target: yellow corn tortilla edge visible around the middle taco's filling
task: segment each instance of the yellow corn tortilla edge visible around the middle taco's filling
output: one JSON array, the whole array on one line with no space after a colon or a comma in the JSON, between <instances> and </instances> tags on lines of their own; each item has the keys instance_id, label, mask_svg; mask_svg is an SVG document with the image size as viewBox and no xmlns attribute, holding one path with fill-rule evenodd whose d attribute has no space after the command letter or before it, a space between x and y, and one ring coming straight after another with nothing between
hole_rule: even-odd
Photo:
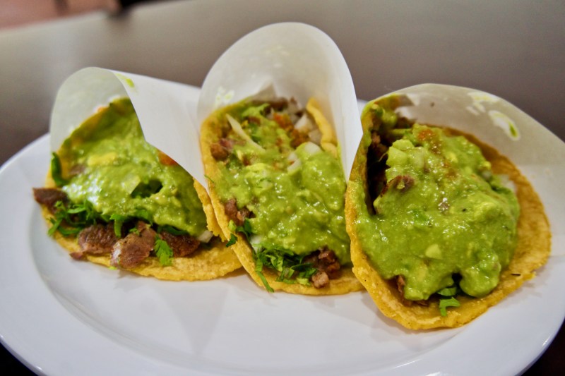
<instances>
[{"instance_id":1,"label":"yellow corn tortilla edge visible around the middle taco's filling","mask_svg":"<svg viewBox=\"0 0 565 376\"><path fill-rule=\"evenodd\" d=\"M330 123L325 119L321 110L314 100L309 101L307 104L307 111L314 118L314 121L319 126L322 133L322 142L324 150L331 150L333 155L337 155L337 140L333 133L333 128ZM230 223L230 218L227 217L225 213L224 205L222 204L220 197L215 191L214 181L218 180L217 177L220 175L220 170L218 169L216 163L217 161L212 156L210 152L210 145L214 142L218 142L222 135L222 124L225 123L220 119L221 110L211 114L208 119L206 119L201 127L201 152L204 164L204 170L206 171L206 176L208 176L208 188L210 191L210 199L214 207L216 218L218 223L224 232L226 238L230 238L232 235L228 225ZM326 144L326 145L324 145ZM263 281L258 277L255 272L255 262L252 257L252 248L244 236L237 234L237 242L231 245L231 248L239 257L239 261L242 263L246 272L249 273L252 279L260 286L265 288ZM330 279L328 286L321 289L316 289L314 286L304 286L302 284L286 284L281 281L276 281L278 274L272 272L268 268L263 268L263 274L268 281L268 284L275 291L286 291L287 293L299 293L303 295L336 295L349 293L352 291L361 291L363 286L359 283L355 274L352 272L351 267L341 267L341 275L338 279Z\"/></svg>"}]
</instances>

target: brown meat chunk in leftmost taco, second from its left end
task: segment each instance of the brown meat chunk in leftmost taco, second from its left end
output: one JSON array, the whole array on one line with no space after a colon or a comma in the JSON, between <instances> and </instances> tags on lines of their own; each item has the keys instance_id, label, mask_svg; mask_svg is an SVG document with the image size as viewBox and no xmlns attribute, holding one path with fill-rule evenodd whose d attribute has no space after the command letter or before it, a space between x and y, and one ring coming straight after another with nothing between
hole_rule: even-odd
<instances>
[{"instance_id":1,"label":"brown meat chunk in leftmost taco, second from its left end","mask_svg":"<svg viewBox=\"0 0 565 376\"><path fill-rule=\"evenodd\" d=\"M81 259L85 254L105 255L112 253L114 244L118 241L112 224L94 224L78 233L78 245L81 250L71 253L71 257Z\"/></svg>"}]
</instances>

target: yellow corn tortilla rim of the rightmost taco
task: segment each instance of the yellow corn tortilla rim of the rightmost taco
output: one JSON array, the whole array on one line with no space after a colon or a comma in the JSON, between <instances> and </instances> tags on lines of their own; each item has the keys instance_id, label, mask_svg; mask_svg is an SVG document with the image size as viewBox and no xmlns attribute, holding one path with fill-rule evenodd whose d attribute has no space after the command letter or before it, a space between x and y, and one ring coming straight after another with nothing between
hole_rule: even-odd
<instances>
[{"instance_id":1,"label":"yellow corn tortilla rim of the rightmost taco","mask_svg":"<svg viewBox=\"0 0 565 376\"><path fill-rule=\"evenodd\" d=\"M370 132L372 126L368 116L362 115L364 133ZM450 130L452 133L464 135L479 146L484 157L491 162L494 174L509 176L516 186L516 196L521 207L518 219L518 245L513 259L507 269L501 273L496 288L483 298L457 296L460 307L449 308L448 315L441 316L437 301L430 300L428 306L404 305L396 283L387 281L371 266L367 255L361 248L359 236L355 228L358 213L355 211L355 200L366 198L367 186L367 145L359 145L353 163L350 181L345 198L345 217L347 234L351 238L351 258L353 272L369 291L381 313L396 320L408 329L432 329L439 327L460 327L475 319L489 307L492 307L512 291L518 289L525 281L535 277L535 269L547 261L551 249L551 232L540 198L528 180L518 168L493 147L480 142L472 135Z\"/></svg>"}]
</instances>

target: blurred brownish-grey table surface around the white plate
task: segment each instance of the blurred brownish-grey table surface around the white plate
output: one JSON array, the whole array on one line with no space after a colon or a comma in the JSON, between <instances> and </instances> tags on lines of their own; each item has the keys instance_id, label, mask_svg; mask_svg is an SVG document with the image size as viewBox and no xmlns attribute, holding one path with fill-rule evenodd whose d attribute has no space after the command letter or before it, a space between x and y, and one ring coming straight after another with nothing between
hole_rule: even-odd
<instances>
[{"instance_id":1,"label":"blurred brownish-grey table surface around the white plate","mask_svg":"<svg viewBox=\"0 0 565 376\"><path fill-rule=\"evenodd\" d=\"M162 1L121 16L0 30L0 164L47 133L57 89L78 69L200 86L239 37L283 21L333 38L359 99L419 83L473 87L509 100L565 140L562 1ZM561 329L526 374L564 371L564 338ZM4 349L0 362L27 370Z\"/></svg>"}]
</instances>

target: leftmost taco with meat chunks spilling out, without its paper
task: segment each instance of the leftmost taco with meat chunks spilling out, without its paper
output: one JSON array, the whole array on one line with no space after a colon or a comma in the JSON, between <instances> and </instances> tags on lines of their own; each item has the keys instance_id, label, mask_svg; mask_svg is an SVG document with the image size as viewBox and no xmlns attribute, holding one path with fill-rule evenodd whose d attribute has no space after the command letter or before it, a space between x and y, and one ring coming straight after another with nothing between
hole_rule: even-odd
<instances>
[{"instance_id":1,"label":"leftmost taco with meat chunks spilling out, without its paper","mask_svg":"<svg viewBox=\"0 0 565 376\"><path fill-rule=\"evenodd\" d=\"M49 234L77 260L177 281L241 267L206 190L145 142L129 99L76 128L33 191Z\"/></svg>"}]
</instances>

